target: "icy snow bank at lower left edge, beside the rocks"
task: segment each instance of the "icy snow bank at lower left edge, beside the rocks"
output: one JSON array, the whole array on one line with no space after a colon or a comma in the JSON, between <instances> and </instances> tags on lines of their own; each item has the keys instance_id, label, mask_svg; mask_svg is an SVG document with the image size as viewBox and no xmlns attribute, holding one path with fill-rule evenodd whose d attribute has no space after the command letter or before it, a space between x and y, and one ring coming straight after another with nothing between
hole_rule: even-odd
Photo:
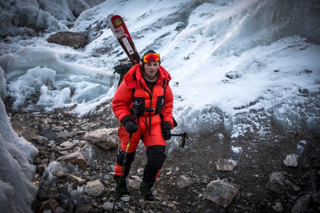
<instances>
[{"instance_id":1,"label":"icy snow bank at lower left edge, beside the rocks","mask_svg":"<svg viewBox=\"0 0 320 213\"><path fill-rule=\"evenodd\" d=\"M0 82L3 70L0 69ZM2 95L2 94L1 94ZM12 129L0 100L0 207L3 213L31 212L29 207L37 193L32 184L38 150Z\"/></svg>"}]
</instances>

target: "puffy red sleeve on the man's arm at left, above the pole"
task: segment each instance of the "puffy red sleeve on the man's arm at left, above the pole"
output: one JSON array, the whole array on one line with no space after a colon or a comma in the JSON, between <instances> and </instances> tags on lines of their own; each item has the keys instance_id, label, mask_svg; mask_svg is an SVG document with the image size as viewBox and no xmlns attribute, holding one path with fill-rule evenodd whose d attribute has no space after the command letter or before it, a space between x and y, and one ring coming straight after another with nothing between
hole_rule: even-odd
<instances>
[{"instance_id":1,"label":"puffy red sleeve on the man's arm at left, above the pole","mask_svg":"<svg viewBox=\"0 0 320 213\"><path fill-rule=\"evenodd\" d=\"M128 89L125 82L122 81L117 90L114 93L112 100L112 111L115 117L122 121L126 115L130 115L130 103L132 100L133 89Z\"/></svg>"}]
</instances>

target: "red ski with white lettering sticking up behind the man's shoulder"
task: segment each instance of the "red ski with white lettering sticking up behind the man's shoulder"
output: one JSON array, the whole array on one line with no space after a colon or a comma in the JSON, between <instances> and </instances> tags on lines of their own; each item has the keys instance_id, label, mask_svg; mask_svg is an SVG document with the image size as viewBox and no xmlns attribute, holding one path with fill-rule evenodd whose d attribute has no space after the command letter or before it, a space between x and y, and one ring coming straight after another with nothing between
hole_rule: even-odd
<instances>
[{"instance_id":1,"label":"red ski with white lettering sticking up behind the man's shoulder","mask_svg":"<svg viewBox=\"0 0 320 213\"><path fill-rule=\"evenodd\" d=\"M140 62L140 56L137 52L130 33L124 23L123 18L120 15L109 14L107 16L107 23L111 29L113 35L123 48L124 52L132 62L132 64L137 64Z\"/></svg>"}]
</instances>

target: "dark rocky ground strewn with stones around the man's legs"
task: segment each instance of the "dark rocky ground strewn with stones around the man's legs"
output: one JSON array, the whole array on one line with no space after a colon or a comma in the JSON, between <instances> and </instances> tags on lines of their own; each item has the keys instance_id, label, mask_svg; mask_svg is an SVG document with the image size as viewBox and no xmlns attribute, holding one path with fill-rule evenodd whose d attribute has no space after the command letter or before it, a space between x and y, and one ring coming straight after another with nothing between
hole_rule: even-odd
<instances>
[{"instance_id":1,"label":"dark rocky ground strewn with stones around the man's legs","mask_svg":"<svg viewBox=\"0 0 320 213\"><path fill-rule=\"evenodd\" d=\"M33 161L36 166L33 182L39 187L32 206L34 212L45 209L55 213L111 212L115 197L112 171L117 148L105 150L84 139L87 132L117 127L109 103L101 107L104 107L102 113L83 118L67 109L45 113L24 108L12 112L7 107L12 128L39 150ZM153 204L146 203L137 190L145 164L144 147L140 144L128 177L131 200L117 202L114 212L320 212L319 140L316 133L285 131L276 125L268 135L251 134L234 140L229 139L223 129L198 132L190 135L183 149L173 140L152 188L156 196ZM306 142L302 153L297 149L301 141ZM234 154L230 151L232 146L241 147L241 152ZM63 157L71 153L80 153L85 159L79 159L77 166L72 166L66 163L72 161ZM283 160L290 154L298 155L297 166L284 165ZM225 161L230 158L236 164ZM49 173L54 162L59 162L60 169ZM229 171L218 170L218 162L229 163ZM218 204L227 203L225 198L214 202L207 196L208 185L218 180L234 187L232 192L236 192L224 207ZM89 185L93 186L91 191ZM222 191L222 188L215 190Z\"/></svg>"}]
</instances>

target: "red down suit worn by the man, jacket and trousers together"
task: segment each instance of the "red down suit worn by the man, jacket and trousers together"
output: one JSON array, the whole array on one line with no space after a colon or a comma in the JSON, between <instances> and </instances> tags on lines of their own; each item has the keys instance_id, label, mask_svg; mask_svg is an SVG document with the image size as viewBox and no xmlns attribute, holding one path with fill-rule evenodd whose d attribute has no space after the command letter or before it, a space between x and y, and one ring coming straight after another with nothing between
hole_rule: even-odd
<instances>
[{"instance_id":1,"label":"red down suit worn by the man, jacket and trousers together","mask_svg":"<svg viewBox=\"0 0 320 213\"><path fill-rule=\"evenodd\" d=\"M133 117L134 108L138 109L138 114L135 119L135 122L138 124L138 129L131 136L127 151L127 162L122 176L126 177L129 173L128 170L134 159L134 154L140 139L146 150L150 146L154 148L158 145L165 148L166 142L162 137L161 122L169 122L171 129L173 128L173 95L169 86L170 80L171 77L169 73L160 65L157 80L150 90L142 77L141 64L136 64L126 73L123 81L117 88L112 100L112 110L120 122L118 136L121 144L114 170L115 176L120 176L122 161L121 159L119 160L119 155L124 155L129 140L129 133L125 131L124 124L122 124L121 121L127 115ZM145 108L154 108L154 111L147 112L143 110ZM147 152L146 154L148 155ZM165 154L163 153L163 155ZM157 174L158 172L159 171L157 171Z\"/></svg>"}]
</instances>

